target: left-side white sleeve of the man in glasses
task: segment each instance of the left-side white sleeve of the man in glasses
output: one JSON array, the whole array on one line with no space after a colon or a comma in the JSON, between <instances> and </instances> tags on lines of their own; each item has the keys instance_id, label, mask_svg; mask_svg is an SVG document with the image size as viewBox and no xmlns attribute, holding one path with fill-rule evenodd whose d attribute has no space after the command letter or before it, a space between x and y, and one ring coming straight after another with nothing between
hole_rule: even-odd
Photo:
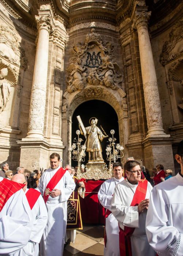
<instances>
[{"instance_id":1,"label":"left-side white sleeve of the man in glasses","mask_svg":"<svg viewBox=\"0 0 183 256\"><path fill-rule=\"evenodd\" d=\"M127 203L123 200L123 190L120 189L122 187L129 191L129 202ZM113 199L111 201L111 212L119 224L127 227L139 227L138 206L127 206L131 204L133 198L133 196L130 197L130 192L130 188L127 188L125 185L118 184L115 187Z\"/></svg>"}]
</instances>

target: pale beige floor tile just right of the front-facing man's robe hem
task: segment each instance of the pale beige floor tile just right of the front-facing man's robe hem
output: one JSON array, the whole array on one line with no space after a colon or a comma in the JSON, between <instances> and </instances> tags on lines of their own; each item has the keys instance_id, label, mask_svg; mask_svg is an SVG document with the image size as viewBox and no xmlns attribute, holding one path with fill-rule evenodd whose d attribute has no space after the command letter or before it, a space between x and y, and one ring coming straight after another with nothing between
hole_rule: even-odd
<instances>
[{"instance_id":1,"label":"pale beige floor tile just right of the front-facing man's robe hem","mask_svg":"<svg viewBox=\"0 0 183 256\"><path fill-rule=\"evenodd\" d=\"M91 238L84 236L83 234L76 234L75 243L70 243L70 246L76 248L79 251L83 251L84 249L96 244L97 242L92 240Z\"/></svg>"}]
</instances>

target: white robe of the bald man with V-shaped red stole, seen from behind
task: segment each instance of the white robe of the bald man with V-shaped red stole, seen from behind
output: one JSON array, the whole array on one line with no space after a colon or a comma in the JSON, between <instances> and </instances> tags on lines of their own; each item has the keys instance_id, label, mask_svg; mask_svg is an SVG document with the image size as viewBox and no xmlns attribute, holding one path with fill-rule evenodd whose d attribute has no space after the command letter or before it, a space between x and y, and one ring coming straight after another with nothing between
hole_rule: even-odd
<instances>
[{"instance_id":1,"label":"white robe of the bald man with V-shaped red stole, seen from behind","mask_svg":"<svg viewBox=\"0 0 183 256\"><path fill-rule=\"evenodd\" d=\"M27 193L27 191L28 188L25 193ZM30 239L28 244L20 250L18 256L39 256L39 242L41 241L43 231L47 224L47 209L41 194L35 202L31 213L33 216L33 229Z\"/></svg>"}]
</instances>

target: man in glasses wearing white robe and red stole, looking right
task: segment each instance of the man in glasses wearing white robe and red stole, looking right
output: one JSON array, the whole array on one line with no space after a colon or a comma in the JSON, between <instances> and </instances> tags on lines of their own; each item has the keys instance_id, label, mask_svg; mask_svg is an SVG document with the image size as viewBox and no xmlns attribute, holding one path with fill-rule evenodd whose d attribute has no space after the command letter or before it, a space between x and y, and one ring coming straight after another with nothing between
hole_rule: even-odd
<instances>
[{"instance_id":1,"label":"man in glasses wearing white robe and red stole, looking right","mask_svg":"<svg viewBox=\"0 0 183 256\"><path fill-rule=\"evenodd\" d=\"M155 256L150 247L145 221L152 186L141 180L140 163L131 160L125 163L126 180L114 189L111 212L119 223L119 248L121 256Z\"/></svg>"}]
</instances>

